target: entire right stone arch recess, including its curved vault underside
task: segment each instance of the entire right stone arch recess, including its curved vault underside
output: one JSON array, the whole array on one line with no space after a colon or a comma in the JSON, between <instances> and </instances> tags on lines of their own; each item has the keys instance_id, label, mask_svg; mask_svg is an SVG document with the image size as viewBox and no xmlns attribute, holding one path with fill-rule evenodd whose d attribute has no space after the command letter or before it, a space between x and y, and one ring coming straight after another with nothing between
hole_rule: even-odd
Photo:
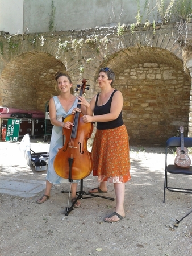
<instances>
[{"instance_id":1,"label":"entire right stone arch recess, including its curved vault underside","mask_svg":"<svg viewBox=\"0 0 192 256\"><path fill-rule=\"evenodd\" d=\"M187 134L191 78L176 55L154 47L127 48L111 56L107 66L124 97L130 143L165 143L179 126Z\"/></svg>"}]
</instances>

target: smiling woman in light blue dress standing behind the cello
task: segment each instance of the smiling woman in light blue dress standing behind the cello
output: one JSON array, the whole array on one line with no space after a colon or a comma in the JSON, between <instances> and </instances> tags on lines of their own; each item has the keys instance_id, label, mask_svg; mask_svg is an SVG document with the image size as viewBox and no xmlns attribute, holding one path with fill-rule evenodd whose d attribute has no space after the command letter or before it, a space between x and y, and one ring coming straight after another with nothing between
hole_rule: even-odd
<instances>
[{"instance_id":1,"label":"smiling woman in light blue dress standing behind the cello","mask_svg":"<svg viewBox=\"0 0 192 256\"><path fill-rule=\"evenodd\" d=\"M54 170L54 159L59 150L64 145L62 128L70 129L73 123L63 122L63 118L72 114L72 110L77 106L78 98L71 93L72 81L70 76L66 73L56 73L55 80L57 81L57 88L60 90L59 96L53 96L49 101L49 115L50 121L53 125L50 150L49 150L49 163L48 171L46 176L46 188L43 196L37 200L37 203L42 204L47 201L50 197L51 188L53 184L61 184L68 182L68 179L64 179L56 174ZM82 112L85 107L82 106ZM77 182L73 180L71 187L72 192L72 203L76 199ZM74 204L74 207L80 207L80 201Z\"/></svg>"}]
</instances>

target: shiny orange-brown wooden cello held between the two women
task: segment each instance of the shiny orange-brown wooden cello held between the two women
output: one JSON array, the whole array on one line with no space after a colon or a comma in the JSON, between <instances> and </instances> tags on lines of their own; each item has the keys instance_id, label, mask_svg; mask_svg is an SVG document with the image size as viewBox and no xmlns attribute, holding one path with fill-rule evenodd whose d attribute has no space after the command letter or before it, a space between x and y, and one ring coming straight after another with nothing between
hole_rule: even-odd
<instances>
[{"instance_id":1,"label":"shiny orange-brown wooden cello held between the two women","mask_svg":"<svg viewBox=\"0 0 192 256\"><path fill-rule=\"evenodd\" d=\"M86 79L83 79L82 85L78 85L81 87L80 96L84 94L85 89L89 89L86 88L86 82ZM79 109L81 108L80 102L78 100ZM69 182L73 182L73 179L84 179L93 169L91 153L87 150L87 141L93 132L93 123L85 123L82 116L81 112L76 112L65 118L65 122L72 122L73 126L69 130L62 129L65 143L62 148L59 148L54 160L56 174L69 179Z\"/></svg>"}]
</instances>

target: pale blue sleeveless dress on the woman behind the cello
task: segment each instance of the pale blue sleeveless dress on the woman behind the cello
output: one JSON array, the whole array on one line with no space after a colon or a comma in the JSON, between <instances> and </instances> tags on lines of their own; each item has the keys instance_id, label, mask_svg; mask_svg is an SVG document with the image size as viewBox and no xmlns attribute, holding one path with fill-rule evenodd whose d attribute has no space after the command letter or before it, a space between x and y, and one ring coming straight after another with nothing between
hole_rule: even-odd
<instances>
[{"instance_id":1,"label":"pale blue sleeveless dress on the woman behind the cello","mask_svg":"<svg viewBox=\"0 0 192 256\"><path fill-rule=\"evenodd\" d=\"M68 112L65 112L64 108L62 108L62 105L60 104L59 98L57 96L53 96L53 100L55 102L56 107L56 118L58 121L62 122L62 117L67 117L68 115L72 114L72 110L76 108L78 99L73 103L72 108L69 109ZM61 126L53 126L52 134L51 134L51 142L50 142L50 148L49 148L49 163L48 163L48 170L47 170L47 176L46 180L48 180L52 184L61 184L61 183L67 183L69 182L68 179L64 179L56 174L54 170L54 159L55 156L59 150L59 148L62 148L64 143L62 139L62 127ZM73 182L78 182L78 180L73 180Z\"/></svg>"}]
</instances>

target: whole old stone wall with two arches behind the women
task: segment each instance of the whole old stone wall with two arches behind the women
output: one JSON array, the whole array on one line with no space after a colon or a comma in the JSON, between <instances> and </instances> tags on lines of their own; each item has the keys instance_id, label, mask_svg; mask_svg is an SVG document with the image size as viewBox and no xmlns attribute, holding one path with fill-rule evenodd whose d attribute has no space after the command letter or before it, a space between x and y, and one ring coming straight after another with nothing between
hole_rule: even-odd
<instances>
[{"instance_id":1,"label":"whole old stone wall with two arches behind the women","mask_svg":"<svg viewBox=\"0 0 192 256\"><path fill-rule=\"evenodd\" d=\"M0 105L45 110L56 94L55 71L67 71L73 85L87 79L88 100L98 90L99 68L114 70L114 87L124 97L123 119L132 144L162 144L179 126L191 133L191 57L175 40L174 24L137 28L117 36L116 27L55 34L0 37ZM192 30L190 30L192 31ZM189 34L189 38L190 38Z\"/></svg>"}]
</instances>

